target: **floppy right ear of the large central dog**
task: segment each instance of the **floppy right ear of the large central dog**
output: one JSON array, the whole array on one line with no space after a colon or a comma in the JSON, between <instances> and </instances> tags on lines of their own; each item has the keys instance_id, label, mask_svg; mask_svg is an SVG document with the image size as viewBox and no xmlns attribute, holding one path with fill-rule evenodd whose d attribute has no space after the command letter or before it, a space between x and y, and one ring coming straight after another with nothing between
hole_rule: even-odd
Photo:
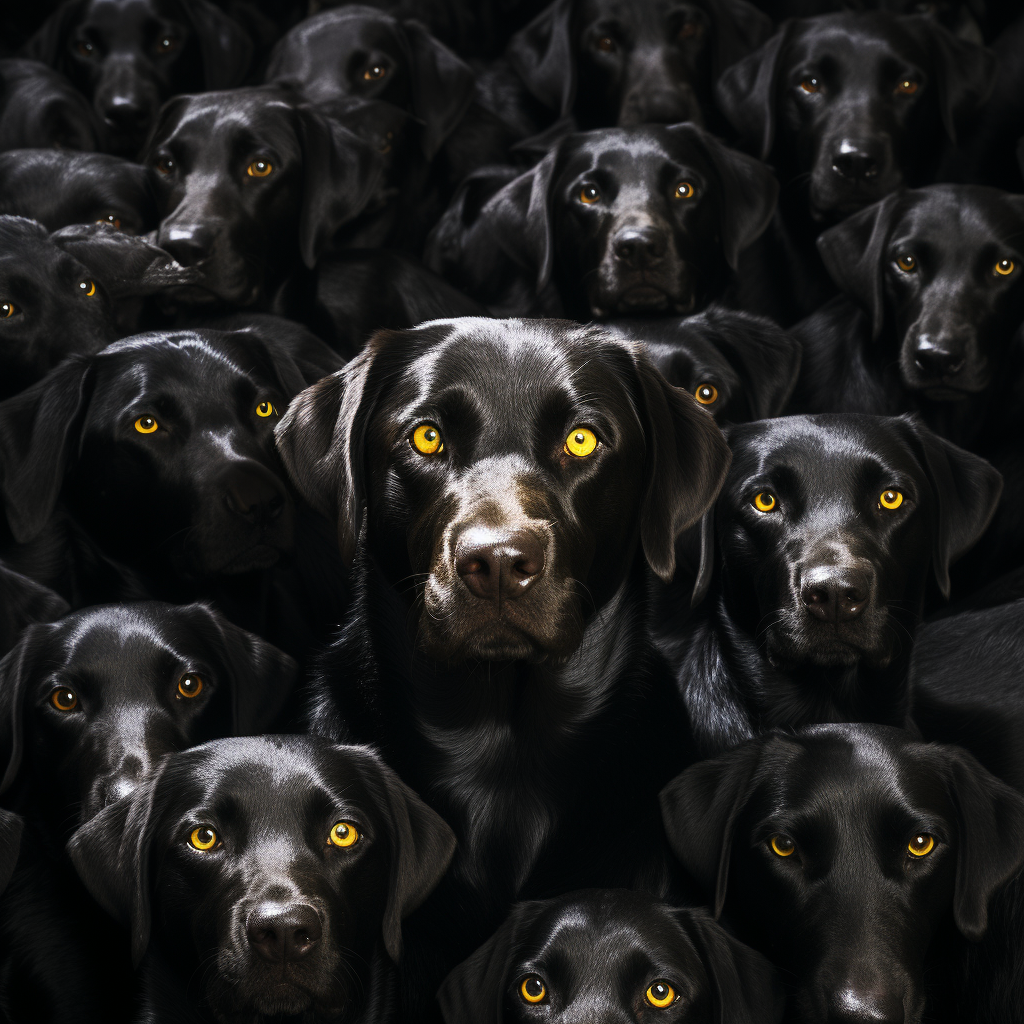
<instances>
[{"instance_id":1,"label":"floppy right ear of the large central dog","mask_svg":"<svg viewBox=\"0 0 1024 1024\"><path fill-rule=\"evenodd\" d=\"M670 583L676 541L714 504L732 453L711 414L673 387L645 350L637 346L634 359L647 445L640 541L650 567Z\"/></svg>"}]
</instances>

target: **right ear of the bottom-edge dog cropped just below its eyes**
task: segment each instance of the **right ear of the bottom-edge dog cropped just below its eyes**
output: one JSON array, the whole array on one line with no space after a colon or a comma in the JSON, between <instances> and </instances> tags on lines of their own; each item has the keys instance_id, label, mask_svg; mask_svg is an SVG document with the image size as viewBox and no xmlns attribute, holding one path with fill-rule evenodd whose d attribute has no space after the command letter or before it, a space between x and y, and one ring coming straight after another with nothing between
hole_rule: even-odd
<instances>
[{"instance_id":1,"label":"right ear of the bottom-edge dog cropped just below its eyes","mask_svg":"<svg viewBox=\"0 0 1024 1024\"><path fill-rule=\"evenodd\" d=\"M778 1024L785 992L771 964L703 910L677 910L711 980L716 1024Z\"/></svg>"}]
</instances>

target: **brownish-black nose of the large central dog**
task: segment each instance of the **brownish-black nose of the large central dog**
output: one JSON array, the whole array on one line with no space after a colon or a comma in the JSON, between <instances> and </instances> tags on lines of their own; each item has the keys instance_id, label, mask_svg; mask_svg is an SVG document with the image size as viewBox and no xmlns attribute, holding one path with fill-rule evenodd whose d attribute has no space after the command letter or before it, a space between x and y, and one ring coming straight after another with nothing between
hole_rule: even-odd
<instances>
[{"instance_id":1,"label":"brownish-black nose of the large central dog","mask_svg":"<svg viewBox=\"0 0 1024 1024\"><path fill-rule=\"evenodd\" d=\"M544 545L525 529L468 529L456 544L455 570L484 601L514 601L544 571Z\"/></svg>"}]
</instances>

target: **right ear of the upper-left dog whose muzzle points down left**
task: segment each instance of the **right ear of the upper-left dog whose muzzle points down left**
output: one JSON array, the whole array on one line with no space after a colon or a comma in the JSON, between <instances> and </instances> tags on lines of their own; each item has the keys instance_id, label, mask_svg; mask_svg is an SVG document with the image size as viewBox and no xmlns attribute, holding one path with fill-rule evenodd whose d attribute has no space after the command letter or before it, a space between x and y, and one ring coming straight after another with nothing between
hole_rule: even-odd
<instances>
[{"instance_id":1,"label":"right ear of the upper-left dog whose muzzle points down left","mask_svg":"<svg viewBox=\"0 0 1024 1024\"><path fill-rule=\"evenodd\" d=\"M295 108L305 185L299 252L312 267L342 224L370 202L383 169L380 154L354 132L309 106Z\"/></svg>"}]
</instances>

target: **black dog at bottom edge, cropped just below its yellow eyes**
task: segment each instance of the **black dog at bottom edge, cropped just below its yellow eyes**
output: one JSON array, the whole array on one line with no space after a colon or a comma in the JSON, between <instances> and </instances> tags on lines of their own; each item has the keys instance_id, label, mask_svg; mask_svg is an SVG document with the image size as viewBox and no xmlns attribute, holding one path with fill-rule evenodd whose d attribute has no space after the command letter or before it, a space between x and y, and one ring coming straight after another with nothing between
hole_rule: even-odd
<instances>
[{"instance_id":1,"label":"black dog at bottom edge, cropped just below its yellow eyes","mask_svg":"<svg viewBox=\"0 0 1024 1024\"><path fill-rule=\"evenodd\" d=\"M702 910L591 889L517 904L438 999L445 1024L774 1024L780 988L768 963Z\"/></svg>"}]
</instances>

